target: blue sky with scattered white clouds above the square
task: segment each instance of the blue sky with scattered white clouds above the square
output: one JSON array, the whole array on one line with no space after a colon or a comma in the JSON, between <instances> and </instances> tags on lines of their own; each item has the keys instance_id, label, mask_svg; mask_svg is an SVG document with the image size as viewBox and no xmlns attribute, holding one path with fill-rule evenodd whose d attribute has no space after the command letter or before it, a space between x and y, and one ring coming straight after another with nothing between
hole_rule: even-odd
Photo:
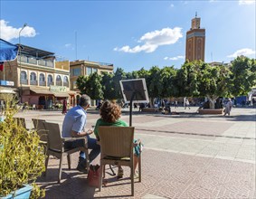
<instances>
[{"instance_id":1,"label":"blue sky with scattered white clouds above the square","mask_svg":"<svg viewBox=\"0 0 256 199\"><path fill-rule=\"evenodd\" d=\"M255 0L0 1L0 37L61 59L137 71L185 62L195 12L205 28L205 62L255 58Z\"/></svg>"}]
</instances>

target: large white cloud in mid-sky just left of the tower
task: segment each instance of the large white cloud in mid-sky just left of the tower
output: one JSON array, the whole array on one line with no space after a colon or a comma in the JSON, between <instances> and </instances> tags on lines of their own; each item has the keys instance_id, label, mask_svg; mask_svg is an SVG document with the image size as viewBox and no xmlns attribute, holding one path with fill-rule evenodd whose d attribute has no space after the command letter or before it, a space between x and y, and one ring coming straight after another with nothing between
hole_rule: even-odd
<instances>
[{"instance_id":1,"label":"large white cloud in mid-sky just left of the tower","mask_svg":"<svg viewBox=\"0 0 256 199\"><path fill-rule=\"evenodd\" d=\"M114 51L130 53L155 52L159 46L176 43L181 37L183 37L181 33L181 28L163 28L160 31L156 30L150 33L145 33L143 36L141 36L137 43L144 43L142 45L137 45L133 48L125 45L121 48L114 48Z\"/></svg>"}]
</instances>

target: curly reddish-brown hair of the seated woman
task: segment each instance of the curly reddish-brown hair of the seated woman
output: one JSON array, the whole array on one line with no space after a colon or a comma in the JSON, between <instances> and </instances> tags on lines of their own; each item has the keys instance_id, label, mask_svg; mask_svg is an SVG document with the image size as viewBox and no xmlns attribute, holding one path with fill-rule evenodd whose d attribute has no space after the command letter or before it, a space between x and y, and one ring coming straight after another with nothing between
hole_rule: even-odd
<instances>
[{"instance_id":1,"label":"curly reddish-brown hair of the seated woman","mask_svg":"<svg viewBox=\"0 0 256 199\"><path fill-rule=\"evenodd\" d=\"M121 109L117 103L105 101L100 107L101 118L109 123L114 123L121 117Z\"/></svg>"}]
</instances>

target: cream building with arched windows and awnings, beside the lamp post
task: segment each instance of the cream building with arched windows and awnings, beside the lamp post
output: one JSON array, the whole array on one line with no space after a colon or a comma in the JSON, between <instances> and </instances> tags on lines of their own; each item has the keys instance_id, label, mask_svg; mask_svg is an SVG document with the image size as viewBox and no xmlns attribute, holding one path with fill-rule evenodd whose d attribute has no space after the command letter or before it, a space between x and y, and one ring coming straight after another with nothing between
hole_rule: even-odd
<instances>
[{"instance_id":1,"label":"cream building with arched windows and awnings, beside the lamp post","mask_svg":"<svg viewBox=\"0 0 256 199\"><path fill-rule=\"evenodd\" d=\"M64 99L73 106L76 92L70 90L70 62L56 62L53 52L30 46L20 49L17 59L4 66L5 81L13 82L19 100L38 109L52 108Z\"/></svg>"}]
</instances>

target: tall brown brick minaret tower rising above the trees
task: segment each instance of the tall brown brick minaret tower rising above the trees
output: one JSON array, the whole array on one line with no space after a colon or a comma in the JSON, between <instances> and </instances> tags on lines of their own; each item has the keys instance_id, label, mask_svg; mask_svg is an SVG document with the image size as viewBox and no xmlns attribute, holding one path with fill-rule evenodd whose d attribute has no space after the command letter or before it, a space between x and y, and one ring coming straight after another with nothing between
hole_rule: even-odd
<instances>
[{"instance_id":1,"label":"tall brown brick minaret tower rising above the trees","mask_svg":"<svg viewBox=\"0 0 256 199\"><path fill-rule=\"evenodd\" d=\"M200 27L200 21L201 18L195 14L190 30L186 32L185 60L189 62L193 62L194 60L204 62L205 29Z\"/></svg>"}]
</instances>

